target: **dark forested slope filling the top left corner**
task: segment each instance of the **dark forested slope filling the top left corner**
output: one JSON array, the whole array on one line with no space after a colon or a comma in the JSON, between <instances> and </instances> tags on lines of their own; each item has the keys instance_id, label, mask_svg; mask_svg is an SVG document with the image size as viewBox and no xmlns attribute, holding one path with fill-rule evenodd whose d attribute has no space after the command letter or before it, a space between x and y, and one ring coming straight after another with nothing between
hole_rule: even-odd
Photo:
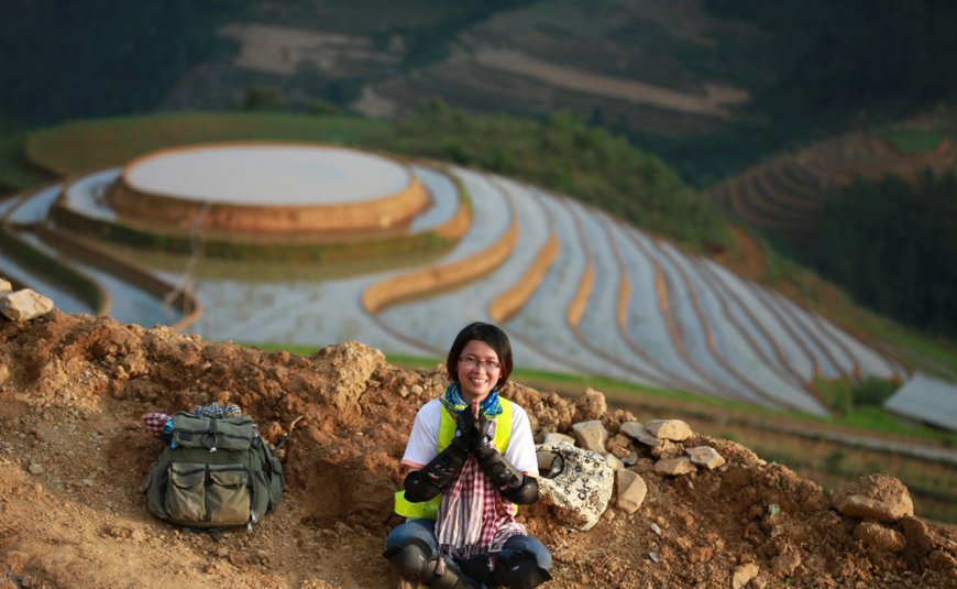
<instances>
[{"instance_id":1,"label":"dark forested slope filling the top left corner","mask_svg":"<svg viewBox=\"0 0 957 589\"><path fill-rule=\"evenodd\" d=\"M250 3L18 3L0 19L2 109L31 126L154 110L197 63L235 48L215 31Z\"/></svg>"}]
</instances>

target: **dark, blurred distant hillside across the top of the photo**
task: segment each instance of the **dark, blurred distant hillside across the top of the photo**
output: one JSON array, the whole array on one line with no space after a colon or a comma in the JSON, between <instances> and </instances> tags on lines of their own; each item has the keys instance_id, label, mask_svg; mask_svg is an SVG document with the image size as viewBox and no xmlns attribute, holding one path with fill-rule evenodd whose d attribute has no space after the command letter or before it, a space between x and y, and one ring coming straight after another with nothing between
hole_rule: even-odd
<instances>
[{"instance_id":1,"label":"dark, blurred distant hillside across the top of the photo","mask_svg":"<svg viewBox=\"0 0 957 589\"><path fill-rule=\"evenodd\" d=\"M15 0L0 114L34 127L156 110L317 103L393 117L440 97L626 132L706 185L795 140L957 88L957 8L892 0L161 4Z\"/></svg>"}]
</instances>

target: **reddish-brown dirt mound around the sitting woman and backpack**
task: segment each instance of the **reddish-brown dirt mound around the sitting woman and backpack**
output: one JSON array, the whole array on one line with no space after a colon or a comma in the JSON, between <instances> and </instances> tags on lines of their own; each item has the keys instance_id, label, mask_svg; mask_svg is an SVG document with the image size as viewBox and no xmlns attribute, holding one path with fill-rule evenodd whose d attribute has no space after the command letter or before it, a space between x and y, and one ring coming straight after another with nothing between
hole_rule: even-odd
<instances>
[{"instance_id":1,"label":"reddish-brown dirt mound around the sitting woman and backpack","mask_svg":"<svg viewBox=\"0 0 957 589\"><path fill-rule=\"evenodd\" d=\"M0 587L386 587L399 457L416 410L443 386L439 367L399 369L356 342L302 358L56 310L2 321ZM537 440L596 413L612 432L667 417L519 383L505 394L528 408ZM302 416L282 450L278 510L218 542L152 517L139 491L160 448L140 416L213 401L240 404L274 443ZM634 514L610 506L575 532L547 505L524 509L553 553L551 587L957 582L953 527L843 515L820 486L743 446L701 435L684 444L710 445L726 463L664 476L650 448L636 448L630 468L648 494Z\"/></svg>"}]
</instances>

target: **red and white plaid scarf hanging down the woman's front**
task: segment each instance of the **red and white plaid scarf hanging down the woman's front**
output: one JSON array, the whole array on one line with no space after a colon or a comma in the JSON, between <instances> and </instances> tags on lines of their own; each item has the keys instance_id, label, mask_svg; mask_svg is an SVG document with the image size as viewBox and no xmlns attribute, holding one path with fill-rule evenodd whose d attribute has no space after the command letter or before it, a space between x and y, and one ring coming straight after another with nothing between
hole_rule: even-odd
<instances>
[{"instance_id":1,"label":"red and white plaid scarf hanging down the woman's front","mask_svg":"<svg viewBox=\"0 0 957 589\"><path fill-rule=\"evenodd\" d=\"M473 558L501 550L516 534L527 532L515 521L515 504L495 490L479 461L470 456L439 505L439 549L455 558Z\"/></svg>"}]
</instances>

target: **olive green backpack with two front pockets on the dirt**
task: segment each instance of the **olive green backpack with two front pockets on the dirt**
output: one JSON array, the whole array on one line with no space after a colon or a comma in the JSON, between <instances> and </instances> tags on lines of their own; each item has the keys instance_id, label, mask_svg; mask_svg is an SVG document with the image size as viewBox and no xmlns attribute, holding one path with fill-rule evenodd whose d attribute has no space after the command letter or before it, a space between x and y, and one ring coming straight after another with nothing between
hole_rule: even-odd
<instances>
[{"instance_id":1,"label":"olive green backpack with two front pockets on the dirt","mask_svg":"<svg viewBox=\"0 0 957 589\"><path fill-rule=\"evenodd\" d=\"M283 465L250 417L179 412L143 491L150 511L170 523L251 530L276 509L283 486Z\"/></svg>"}]
</instances>

